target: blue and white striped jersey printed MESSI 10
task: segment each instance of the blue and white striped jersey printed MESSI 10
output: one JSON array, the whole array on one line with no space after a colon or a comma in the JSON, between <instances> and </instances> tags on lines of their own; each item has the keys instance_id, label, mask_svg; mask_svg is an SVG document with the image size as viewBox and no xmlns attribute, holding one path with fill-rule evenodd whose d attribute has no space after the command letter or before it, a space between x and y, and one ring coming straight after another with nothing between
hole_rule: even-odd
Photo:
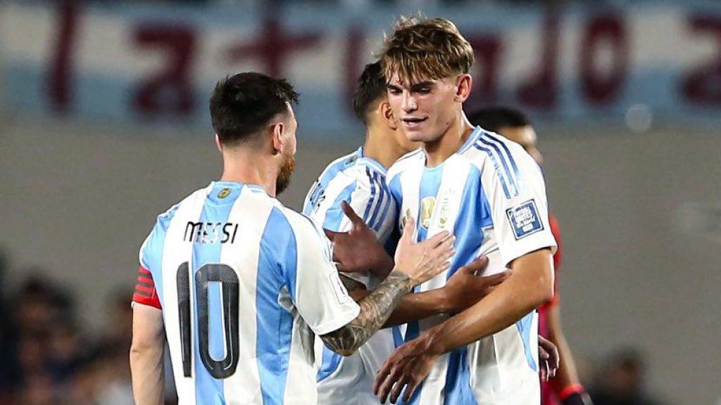
<instances>
[{"instance_id":1,"label":"blue and white striped jersey printed MESSI 10","mask_svg":"<svg viewBox=\"0 0 721 405\"><path fill-rule=\"evenodd\" d=\"M180 404L315 404L315 334L348 324L322 231L260 187L212 182L140 252L162 303Z\"/></svg>"}]
</instances>

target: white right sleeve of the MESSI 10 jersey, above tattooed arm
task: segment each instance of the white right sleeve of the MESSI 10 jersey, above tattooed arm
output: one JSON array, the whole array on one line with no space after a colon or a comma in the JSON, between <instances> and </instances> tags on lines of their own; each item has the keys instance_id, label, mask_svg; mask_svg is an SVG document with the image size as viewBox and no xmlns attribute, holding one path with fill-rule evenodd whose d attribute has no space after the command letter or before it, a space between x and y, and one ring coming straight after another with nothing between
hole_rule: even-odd
<instances>
[{"instance_id":1,"label":"white right sleeve of the MESSI 10 jersey, above tattooed arm","mask_svg":"<svg viewBox=\"0 0 721 405\"><path fill-rule=\"evenodd\" d=\"M355 319L361 308L342 285L322 231L311 221L296 225L296 271L285 272L286 282L306 324L318 335L327 334Z\"/></svg>"}]
</instances>

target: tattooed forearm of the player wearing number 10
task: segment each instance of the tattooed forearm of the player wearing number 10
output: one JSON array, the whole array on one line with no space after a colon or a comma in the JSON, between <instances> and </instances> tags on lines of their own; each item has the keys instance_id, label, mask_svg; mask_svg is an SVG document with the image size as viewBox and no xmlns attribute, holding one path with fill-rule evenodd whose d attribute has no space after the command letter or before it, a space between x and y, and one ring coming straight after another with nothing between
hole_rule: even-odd
<instances>
[{"instance_id":1,"label":"tattooed forearm of the player wearing number 10","mask_svg":"<svg viewBox=\"0 0 721 405\"><path fill-rule=\"evenodd\" d=\"M410 290L410 278L407 275L391 272L378 288L358 303L361 306L358 317L342 328L322 335L321 339L334 352L344 356L352 355L386 323L394 308Z\"/></svg>"}]
</instances>

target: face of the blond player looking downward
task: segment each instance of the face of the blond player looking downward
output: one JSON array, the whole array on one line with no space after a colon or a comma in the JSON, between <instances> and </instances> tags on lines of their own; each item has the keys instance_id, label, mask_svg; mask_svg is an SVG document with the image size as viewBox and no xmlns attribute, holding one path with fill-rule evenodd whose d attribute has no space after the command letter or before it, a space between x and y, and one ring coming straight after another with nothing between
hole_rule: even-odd
<instances>
[{"instance_id":1,"label":"face of the blond player looking downward","mask_svg":"<svg viewBox=\"0 0 721 405\"><path fill-rule=\"evenodd\" d=\"M409 141L433 142L454 123L456 79L402 81L397 75L388 84L388 102L400 130Z\"/></svg>"}]
</instances>

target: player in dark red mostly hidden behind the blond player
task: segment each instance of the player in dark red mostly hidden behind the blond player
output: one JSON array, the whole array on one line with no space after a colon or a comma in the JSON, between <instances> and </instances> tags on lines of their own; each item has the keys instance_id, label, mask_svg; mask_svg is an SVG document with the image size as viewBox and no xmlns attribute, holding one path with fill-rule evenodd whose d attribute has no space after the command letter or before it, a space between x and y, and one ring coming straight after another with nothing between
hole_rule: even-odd
<instances>
[{"instance_id":1,"label":"player in dark red mostly hidden behind the blond player","mask_svg":"<svg viewBox=\"0 0 721 405\"><path fill-rule=\"evenodd\" d=\"M518 143L537 164L543 163L543 155L536 147L536 131L523 112L509 107L488 107L470 113L468 119L473 125ZM591 404L590 398L578 380L573 355L561 328L557 277L562 259L561 233L554 215L549 213L548 219L558 249L553 255L554 295L551 301L539 308L539 334L558 347L561 364L554 378L541 383L541 404L557 405L560 400L563 405L588 405Z\"/></svg>"}]
</instances>

